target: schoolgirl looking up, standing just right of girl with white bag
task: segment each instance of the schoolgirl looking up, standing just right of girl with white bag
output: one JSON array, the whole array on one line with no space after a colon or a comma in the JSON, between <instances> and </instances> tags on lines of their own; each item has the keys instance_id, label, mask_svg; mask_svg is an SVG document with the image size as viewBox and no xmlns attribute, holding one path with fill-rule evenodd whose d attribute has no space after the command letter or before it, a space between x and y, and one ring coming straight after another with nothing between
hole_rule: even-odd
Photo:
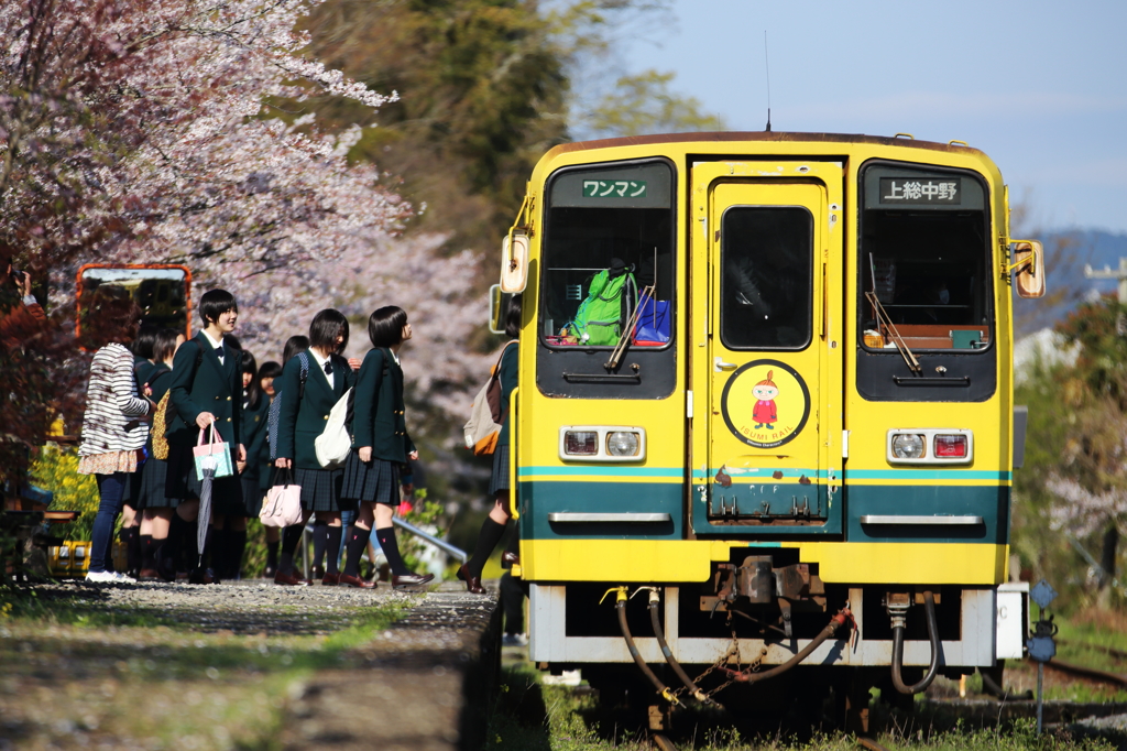
<instances>
[{"instance_id":1,"label":"schoolgirl looking up, standing just right of girl with white bag","mask_svg":"<svg viewBox=\"0 0 1127 751\"><path fill-rule=\"evenodd\" d=\"M391 585L399 590L426 584L434 574L410 571L399 555L391 519L399 505L399 467L418 451L407 434L403 417L403 371L399 347L411 338L411 326L401 308L380 308L367 320L372 348L364 357L356 383L353 450L345 462L346 498L360 501L360 514L348 537L347 563L340 583L371 589L375 582L360 576L360 557L375 523L375 537L391 567Z\"/></svg>"}]
</instances>

